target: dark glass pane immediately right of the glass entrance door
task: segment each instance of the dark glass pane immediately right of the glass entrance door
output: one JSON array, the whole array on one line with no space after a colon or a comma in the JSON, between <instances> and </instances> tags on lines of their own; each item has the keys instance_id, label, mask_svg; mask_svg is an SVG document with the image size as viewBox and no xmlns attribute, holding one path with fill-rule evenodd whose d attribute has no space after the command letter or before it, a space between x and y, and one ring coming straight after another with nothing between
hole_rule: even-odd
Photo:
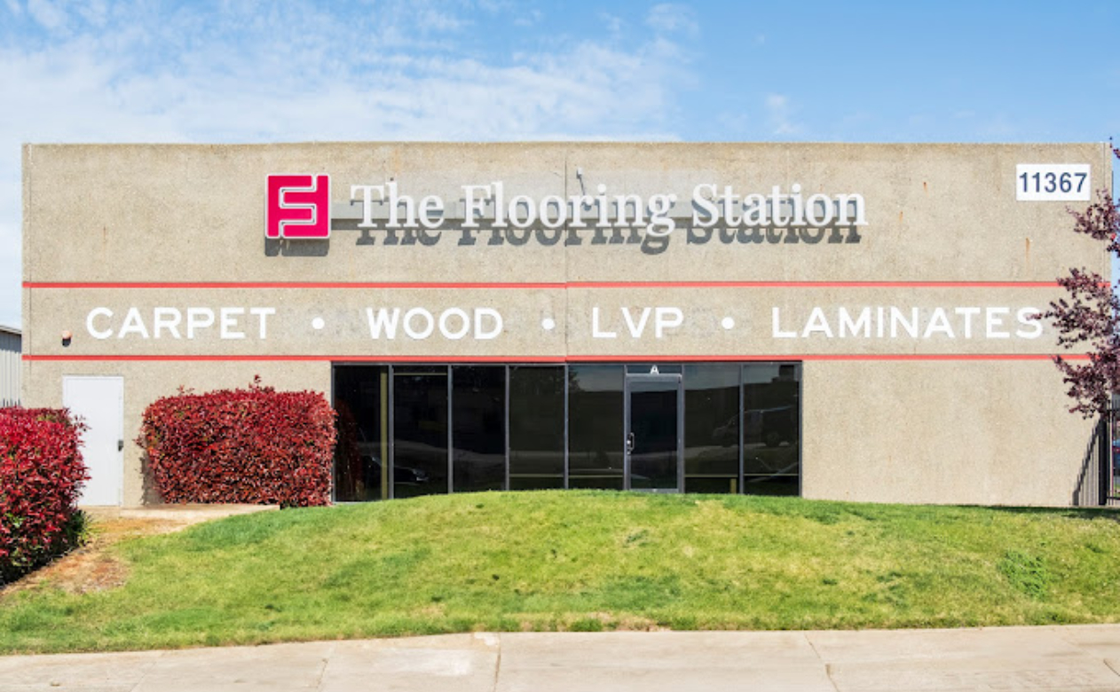
<instances>
[{"instance_id":1,"label":"dark glass pane immediately right of the glass entrance door","mask_svg":"<svg viewBox=\"0 0 1120 692\"><path fill-rule=\"evenodd\" d=\"M739 364L684 366L684 490L738 493Z\"/></svg>"}]
</instances>

